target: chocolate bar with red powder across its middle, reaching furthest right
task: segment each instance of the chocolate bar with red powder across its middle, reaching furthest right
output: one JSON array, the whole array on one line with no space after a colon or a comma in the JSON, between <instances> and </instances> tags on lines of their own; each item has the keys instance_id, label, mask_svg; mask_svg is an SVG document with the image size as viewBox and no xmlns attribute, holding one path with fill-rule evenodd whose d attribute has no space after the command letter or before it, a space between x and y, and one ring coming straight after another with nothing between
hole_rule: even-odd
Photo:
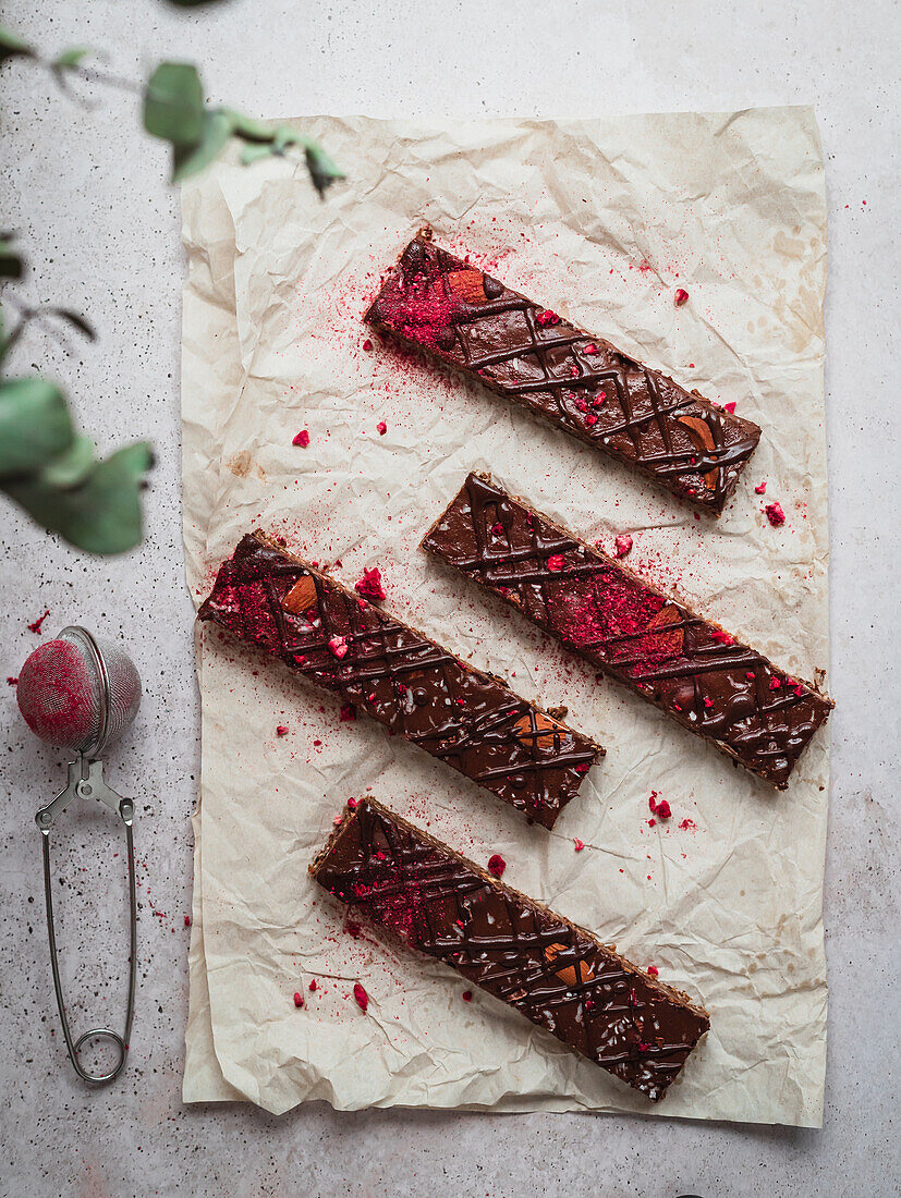
<instances>
[{"instance_id":1,"label":"chocolate bar with red powder across its middle, reaching furthest right","mask_svg":"<svg viewBox=\"0 0 901 1198\"><path fill-rule=\"evenodd\" d=\"M485 476L423 547L780 791L834 706Z\"/></svg>"}]
</instances>

